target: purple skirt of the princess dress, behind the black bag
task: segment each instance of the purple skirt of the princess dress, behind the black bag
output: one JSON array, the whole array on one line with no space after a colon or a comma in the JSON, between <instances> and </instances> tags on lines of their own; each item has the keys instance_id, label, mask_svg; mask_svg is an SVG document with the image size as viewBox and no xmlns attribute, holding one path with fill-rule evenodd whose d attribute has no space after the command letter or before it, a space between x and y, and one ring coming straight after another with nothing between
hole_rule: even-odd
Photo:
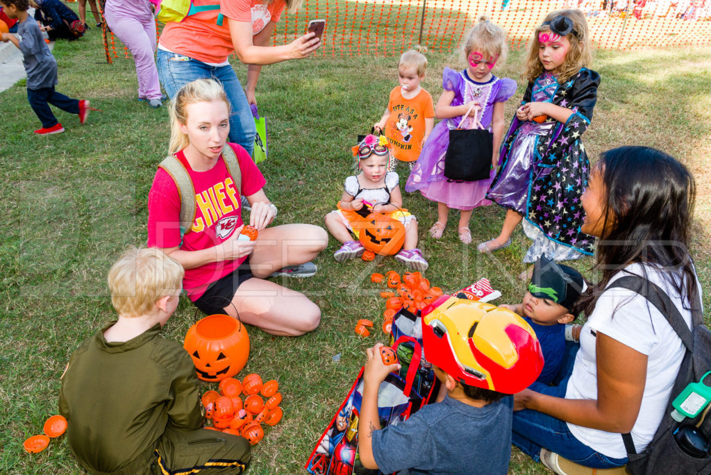
<instances>
[{"instance_id":1,"label":"purple skirt of the princess dress, behind the black bag","mask_svg":"<svg viewBox=\"0 0 711 475\"><path fill-rule=\"evenodd\" d=\"M405 191L419 191L428 200L445 203L449 208L471 210L477 206L491 205L486 199L491 181L496 176L491 171L487 180L457 183L444 177L444 154L449 146L449 119L439 122L427 137L422 153L405 183Z\"/></svg>"}]
</instances>

